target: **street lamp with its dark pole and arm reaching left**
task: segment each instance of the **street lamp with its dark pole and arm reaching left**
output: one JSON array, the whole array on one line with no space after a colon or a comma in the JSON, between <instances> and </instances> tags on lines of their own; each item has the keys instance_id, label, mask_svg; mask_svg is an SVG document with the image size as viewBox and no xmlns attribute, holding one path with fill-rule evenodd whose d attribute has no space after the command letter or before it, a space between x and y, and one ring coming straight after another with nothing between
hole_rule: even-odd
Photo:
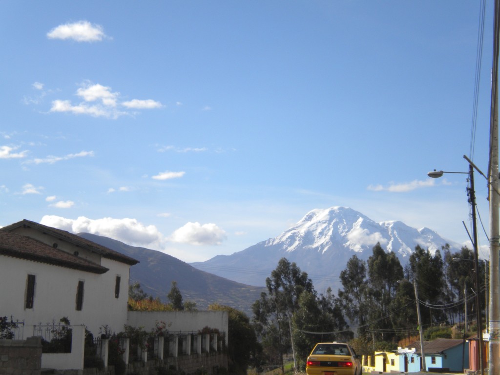
<instances>
[{"instance_id":1,"label":"street lamp with its dark pole and arm reaching left","mask_svg":"<svg viewBox=\"0 0 500 375\"><path fill-rule=\"evenodd\" d=\"M460 173L460 174L468 174L469 175L469 180L470 180L470 187L467 188L467 195L468 195L468 202L470 203L470 208L472 209L472 235L473 235L473 241L472 245L474 247L474 274L475 274L475 287L476 287L476 293L475 293L475 303L477 306L477 314L476 314L476 319L477 319L477 338L479 341L479 368L481 370L481 375L484 375L484 368L482 365L482 319L481 319L481 309L479 305L479 264L478 264L478 256L477 256L477 225L476 225L476 219L475 219L475 191L474 191L474 167L482 174L484 175L475 165L472 163L472 161L465 155L463 155L463 158L465 158L469 162L469 171L468 172L445 172L443 170L433 170L432 172L428 172L427 175L432 178L438 178L443 175L443 173Z\"/></svg>"}]
</instances>

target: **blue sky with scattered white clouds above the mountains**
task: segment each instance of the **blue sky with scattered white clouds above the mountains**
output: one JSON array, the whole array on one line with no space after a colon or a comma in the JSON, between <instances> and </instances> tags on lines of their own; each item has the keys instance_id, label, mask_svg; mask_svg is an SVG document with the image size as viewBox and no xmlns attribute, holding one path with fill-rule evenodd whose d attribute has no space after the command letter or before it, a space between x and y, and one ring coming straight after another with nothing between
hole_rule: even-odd
<instances>
[{"instance_id":1,"label":"blue sky with scattered white clouds above the mountains","mask_svg":"<svg viewBox=\"0 0 500 375\"><path fill-rule=\"evenodd\" d=\"M464 242L465 176L426 172L466 171L463 154L487 171L491 1L472 142L479 13L468 0L4 0L0 225L199 261L349 206ZM488 231L478 174L476 194Z\"/></svg>"}]
</instances>

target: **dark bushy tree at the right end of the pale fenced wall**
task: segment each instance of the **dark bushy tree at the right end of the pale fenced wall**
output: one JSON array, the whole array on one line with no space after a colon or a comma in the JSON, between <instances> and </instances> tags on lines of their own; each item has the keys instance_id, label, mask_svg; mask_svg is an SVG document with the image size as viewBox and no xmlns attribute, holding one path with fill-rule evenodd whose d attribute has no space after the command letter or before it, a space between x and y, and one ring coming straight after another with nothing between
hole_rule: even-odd
<instances>
[{"instance_id":1,"label":"dark bushy tree at the right end of the pale fenced wall","mask_svg":"<svg viewBox=\"0 0 500 375\"><path fill-rule=\"evenodd\" d=\"M250 324L250 319L243 312L218 303L209 305L208 309L228 311L227 340L230 343L227 348L228 370L231 374L246 375L250 361L257 357L257 353L260 351L260 345L257 342L255 330Z\"/></svg>"}]
</instances>

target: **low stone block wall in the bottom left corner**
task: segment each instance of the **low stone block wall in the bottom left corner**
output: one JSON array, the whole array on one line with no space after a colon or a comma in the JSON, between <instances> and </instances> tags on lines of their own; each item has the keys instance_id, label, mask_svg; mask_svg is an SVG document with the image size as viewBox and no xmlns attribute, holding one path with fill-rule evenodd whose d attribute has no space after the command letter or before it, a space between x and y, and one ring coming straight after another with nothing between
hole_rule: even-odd
<instances>
[{"instance_id":1,"label":"low stone block wall in the bottom left corner","mask_svg":"<svg viewBox=\"0 0 500 375\"><path fill-rule=\"evenodd\" d=\"M41 338L0 340L0 373L39 375L41 369Z\"/></svg>"}]
</instances>

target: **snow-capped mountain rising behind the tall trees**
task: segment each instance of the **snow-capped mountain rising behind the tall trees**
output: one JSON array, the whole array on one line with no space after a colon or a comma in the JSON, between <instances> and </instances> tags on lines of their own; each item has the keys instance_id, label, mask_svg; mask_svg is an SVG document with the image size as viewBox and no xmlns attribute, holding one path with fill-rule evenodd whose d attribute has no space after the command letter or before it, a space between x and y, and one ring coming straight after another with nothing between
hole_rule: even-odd
<instances>
[{"instance_id":1,"label":"snow-capped mountain rising behind the tall trees","mask_svg":"<svg viewBox=\"0 0 500 375\"><path fill-rule=\"evenodd\" d=\"M429 228L412 228L401 221L375 222L349 207L309 211L294 226L274 238L259 242L231 255L217 255L196 268L249 285L264 285L265 278L281 257L307 272L317 291L341 287L340 271L356 254L366 260L379 242L393 251L404 265L416 245L431 252L448 243L452 251L460 245L445 240Z\"/></svg>"}]
</instances>

